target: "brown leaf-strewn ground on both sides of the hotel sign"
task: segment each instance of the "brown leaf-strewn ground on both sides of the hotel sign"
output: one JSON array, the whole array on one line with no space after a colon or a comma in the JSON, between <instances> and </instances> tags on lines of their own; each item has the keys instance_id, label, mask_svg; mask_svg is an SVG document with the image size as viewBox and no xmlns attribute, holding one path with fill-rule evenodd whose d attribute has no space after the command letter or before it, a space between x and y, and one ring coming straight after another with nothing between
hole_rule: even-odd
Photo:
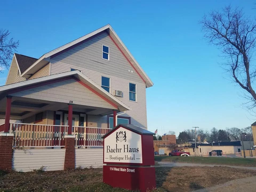
<instances>
[{"instance_id":1,"label":"brown leaf-strewn ground on both sides of the hotel sign","mask_svg":"<svg viewBox=\"0 0 256 192\"><path fill-rule=\"evenodd\" d=\"M193 191L220 185L233 179L253 176L256 176L256 171L229 167L156 167L157 189L152 192ZM78 169L3 174L0 176L0 191L124 192L128 190L112 188L102 183L102 169Z\"/></svg>"}]
</instances>

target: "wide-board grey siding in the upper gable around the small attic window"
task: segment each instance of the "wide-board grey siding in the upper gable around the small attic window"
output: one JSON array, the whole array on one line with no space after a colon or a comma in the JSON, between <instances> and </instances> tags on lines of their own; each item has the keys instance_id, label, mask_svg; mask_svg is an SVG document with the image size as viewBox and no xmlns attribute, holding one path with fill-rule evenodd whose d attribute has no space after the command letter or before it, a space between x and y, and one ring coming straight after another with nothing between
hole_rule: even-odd
<instances>
[{"instance_id":1,"label":"wide-board grey siding in the upper gable around the small attic window","mask_svg":"<svg viewBox=\"0 0 256 192\"><path fill-rule=\"evenodd\" d=\"M110 47L109 61L102 59L102 45ZM63 62L86 70L98 71L112 76L119 75L124 79L133 79L136 82L143 83L143 80L134 71L133 67L129 64L121 51L119 51L117 46L115 46L107 33L101 34L82 45L54 57L51 59L51 62ZM51 74L59 73L59 70L60 69L56 69L55 67L51 69ZM130 70L130 72L128 70ZM131 70L133 70L133 73L131 73Z\"/></svg>"}]
</instances>

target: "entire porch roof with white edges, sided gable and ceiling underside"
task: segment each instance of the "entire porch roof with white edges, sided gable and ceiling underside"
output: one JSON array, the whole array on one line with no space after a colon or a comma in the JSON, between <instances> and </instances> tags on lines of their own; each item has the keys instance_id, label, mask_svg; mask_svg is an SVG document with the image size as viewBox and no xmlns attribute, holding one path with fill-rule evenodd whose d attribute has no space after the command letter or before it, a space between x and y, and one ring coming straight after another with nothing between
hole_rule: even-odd
<instances>
[{"instance_id":1,"label":"entire porch roof with white edges, sided gable and ceiling underside","mask_svg":"<svg viewBox=\"0 0 256 192\"><path fill-rule=\"evenodd\" d=\"M77 87L72 87L73 90L69 90L71 84ZM60 87L64 91L60 92L56 98L51 98L50 95L57 92ZM67 99L68 95L76 95L77 90L80 91L81 99L73 103L74 111L106 115L112 114L113 110L130 110L119 99L76 70L1 86L0 118L5 118L6 96L13 97L11 119L24 119L45 110L66 110L67 104L72 100L72 97ZM84 92L81 92L83 90ZM30 93L36 94L32 94L32 97Z\"/></svg>"}]
</instances>

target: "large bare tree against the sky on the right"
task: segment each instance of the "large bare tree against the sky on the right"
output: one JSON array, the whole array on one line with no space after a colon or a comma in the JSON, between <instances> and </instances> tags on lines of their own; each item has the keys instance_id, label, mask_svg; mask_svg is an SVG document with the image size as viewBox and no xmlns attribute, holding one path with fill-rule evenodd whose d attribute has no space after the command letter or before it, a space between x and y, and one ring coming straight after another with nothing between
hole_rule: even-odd
<instances>
[{"instance_id":1,"label":"large bare tree against the sky on the right","mask_svg":"<svg viewBox=\"0 0 256 192\"><path fill-rule=\"evenodd\" d=\"M202 30L210 43L222 50L227 62L224 69L232 81L245 91L245 106L253 110L256 107L256 93L253 81L256 67L251 63L255 56L256 22L255 18L246 17L242 9L225 7L221 12L212 11L201 21Z\"/></svg>"}]
</instances>

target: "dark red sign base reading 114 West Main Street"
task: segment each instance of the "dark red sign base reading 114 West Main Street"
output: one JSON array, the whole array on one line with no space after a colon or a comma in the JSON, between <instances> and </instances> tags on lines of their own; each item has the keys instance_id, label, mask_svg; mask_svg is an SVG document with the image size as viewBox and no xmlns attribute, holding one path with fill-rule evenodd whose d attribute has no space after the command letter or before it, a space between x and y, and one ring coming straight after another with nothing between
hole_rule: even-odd
<instances>
[{"instance_id":1,"label":"dark red sign base reading 114 West Main Street","mask_svg":"<svg viewBox=\"0 0 256 192\"><path fill-rule=\"evenodd\" d=\"M146 192L156 188L155 167L104 165L103 182L112 187Z\"/></svg>"}]
</instances>

